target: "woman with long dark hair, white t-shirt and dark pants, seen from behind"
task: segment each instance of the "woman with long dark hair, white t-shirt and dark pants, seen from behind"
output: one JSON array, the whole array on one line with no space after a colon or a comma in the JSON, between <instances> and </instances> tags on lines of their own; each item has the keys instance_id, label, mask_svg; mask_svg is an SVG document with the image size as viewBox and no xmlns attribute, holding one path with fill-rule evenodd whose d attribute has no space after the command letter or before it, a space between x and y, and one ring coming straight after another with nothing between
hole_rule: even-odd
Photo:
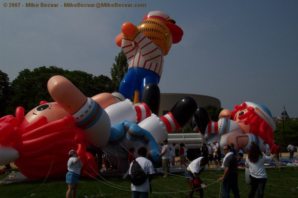
<instances>
[{"instance_id":1,"label":"woman with long dark hair, white t-shirt and dark pants, seen from behind","mask_svg":"<svg viewBox=\"0 0 298 198\"><path fill-rule=\"evenodd\" d=\"M250 170L251 189L248 198L254 198L258 189L258 198L264 197L264 190L267 181L267 174L264 163L270 163L273 159L263 155L258 145L253 145L248 152L245 161L246 168Z\"/></svg>"}]
</instances>

